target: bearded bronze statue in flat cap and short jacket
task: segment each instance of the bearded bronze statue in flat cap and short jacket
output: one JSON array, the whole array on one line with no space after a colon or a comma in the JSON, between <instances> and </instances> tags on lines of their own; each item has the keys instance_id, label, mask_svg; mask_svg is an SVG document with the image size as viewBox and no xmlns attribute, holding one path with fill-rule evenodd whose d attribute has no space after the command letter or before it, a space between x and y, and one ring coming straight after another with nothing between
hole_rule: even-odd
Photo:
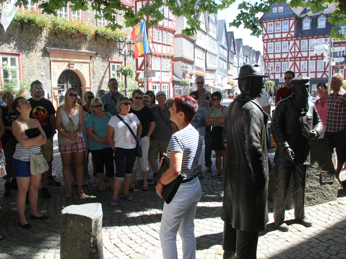
<instances>
[{"instance_id":1,"label":"bearded bronze statue in flat cap and short jacket","mask_svg":"<svg viewBox=\"0 0 346 259\"><path fill-rule=\"evenodd\" d=\"M306 227L312 225L304 210L306 166L310 165L310 139L317 139L323 130L315 105L308 101L310 78L300 76L290 83L293 94L277 104L271 122L277 145L274 156L277 166L273 195L274 222L281 231L288 231L284 221L285 200L291 176L294 218Z\"/></svg>"}]
</instances>

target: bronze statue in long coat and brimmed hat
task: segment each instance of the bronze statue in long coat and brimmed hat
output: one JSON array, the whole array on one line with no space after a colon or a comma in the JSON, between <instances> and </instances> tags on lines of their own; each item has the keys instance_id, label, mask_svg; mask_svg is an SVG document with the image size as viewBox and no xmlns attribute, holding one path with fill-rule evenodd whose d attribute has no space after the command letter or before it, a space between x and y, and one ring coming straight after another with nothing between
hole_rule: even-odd
<instances>
[{"instance_id":1,"label":"bronze statue in long coat and brimmed hat","mask_svg":"<svg viewBox=\"0 0 346 259\"><path fill-rule=\"evenodd\" d=\"M227 150L224 203L224 259L256 258L258 233L267 217L267 114L261 96L263 72L257 64L240 68L241 94L228 106L223 141Z\"/></svg>"}]
</instances>

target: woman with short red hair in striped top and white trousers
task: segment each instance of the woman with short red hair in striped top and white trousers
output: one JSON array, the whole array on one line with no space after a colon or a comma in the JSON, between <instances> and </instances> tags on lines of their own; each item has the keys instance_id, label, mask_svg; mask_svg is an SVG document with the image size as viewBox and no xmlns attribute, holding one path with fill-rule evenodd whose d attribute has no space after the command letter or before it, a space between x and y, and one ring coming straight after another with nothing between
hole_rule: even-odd
<instances>
[{"instance_id":1,"label":"woman with short red hair in striped top and white trousers","mask_svg":"<svg viewBox=\"0 0 346 259\"><path fill-rule=\"evenodd\" d=\"M175 122L179 131L171 137L167 147L170 168L164 173L156 186L156 192L162 197L165 185L184 173L185 177L171 203L163 205L160 240L163 258L178 258L176 234L179 230L183 242L183 258L196 258L194 237L194 216L202 188L197 178L198 159L202 150L202 140L198 131L191 125L197 113L198 103L189 95L178 95L170 108L170 120ZM160 163L160 166L162 161Z\"/></svg>"}]
</instances>

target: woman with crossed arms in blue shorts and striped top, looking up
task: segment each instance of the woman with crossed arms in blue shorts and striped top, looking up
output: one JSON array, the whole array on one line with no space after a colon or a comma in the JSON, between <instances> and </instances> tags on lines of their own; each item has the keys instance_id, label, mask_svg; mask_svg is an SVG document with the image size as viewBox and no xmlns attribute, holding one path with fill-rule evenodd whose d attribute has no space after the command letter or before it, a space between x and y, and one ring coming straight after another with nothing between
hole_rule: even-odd
<instances>
[{"instance_id":1,"label":"woman with crossed arms in blue shorts and striped top, looking up","mask_svg":"<svg viewBox=\"0 0 346 259\"><path fill-rule=\"evenodd\" d=\"M29 117L31 112L30 102L24 97L17 97L13 101L13 108L19 114L18 119L12 123L13 135L18 140L16 151L13 154L13 172L17 178L18 193L16 199L17 211L19 214L18 225L21 228L29 229L31 224L25 218L25 200L28 189L30 204L30 219L48 219L47 215L37 212L38 186L41 175L31 175L30 172L30 154L41 153L41 145L46 144L46 134L40 123Z\"/></svg>"}]
</instances>

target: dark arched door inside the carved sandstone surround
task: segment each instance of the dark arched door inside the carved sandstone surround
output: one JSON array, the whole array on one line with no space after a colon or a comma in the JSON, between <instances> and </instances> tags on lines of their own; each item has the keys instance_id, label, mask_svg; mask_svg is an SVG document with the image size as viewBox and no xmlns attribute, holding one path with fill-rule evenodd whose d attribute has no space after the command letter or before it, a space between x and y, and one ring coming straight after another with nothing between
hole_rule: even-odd
<instances>
[{"instance_id":1,"label":"dark arched door inside the carved sandstone surround","mask_svg":"<svg viewBox=\"0 0 346 259\"><path fill-rule=\"evenodd\" d=\"M72 70L65 70L58 76L57 86L59 105L63 104L65 91L71 87L77 89L77 94L83 99L81 80Z\"/></svg>"}]
</instances>

